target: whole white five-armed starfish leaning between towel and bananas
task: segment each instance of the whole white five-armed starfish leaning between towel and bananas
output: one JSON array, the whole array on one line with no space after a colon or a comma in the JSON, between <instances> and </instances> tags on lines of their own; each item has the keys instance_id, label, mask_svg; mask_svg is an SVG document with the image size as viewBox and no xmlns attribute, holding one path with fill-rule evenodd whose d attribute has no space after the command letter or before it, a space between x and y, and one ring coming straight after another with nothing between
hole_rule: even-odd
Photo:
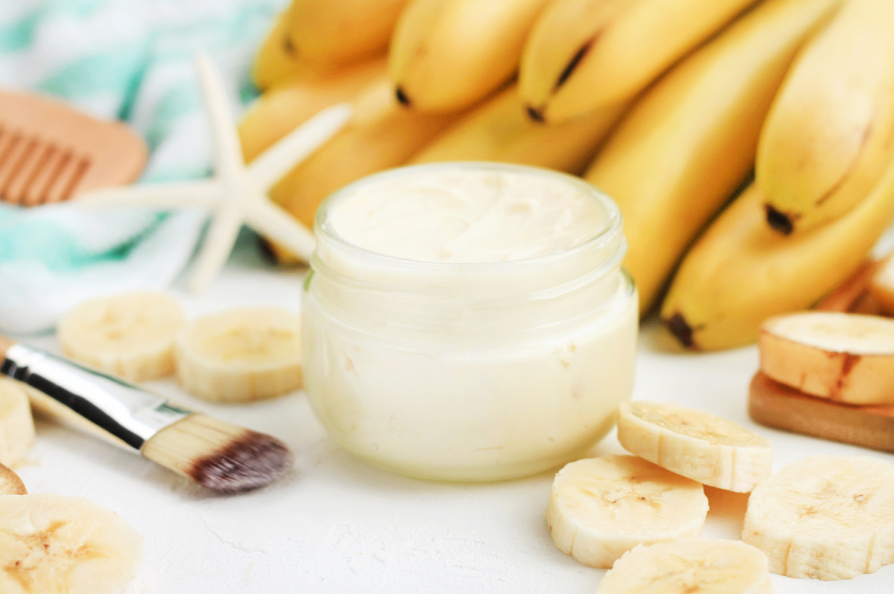
<instances>
[{"instance_id":1,"label":"whole white five-armed starfish leaning between towel and bananas","mask_svg":"<svg viewBox=\"0 0 894 594\"><path fill-rule=\"evenodd\" d=\"M226 263L243 223L307 261L314 250L314 234L274 204L267 192L341 130L351 109L340 104L323 110L245 165L220 76L205 55L198 56L196 66L215 144L215 176L195 182L85 191L75 203L85 207L207 208L212 221L190 279L190 290L198 293Z\"/></svg>"}]
</instances>

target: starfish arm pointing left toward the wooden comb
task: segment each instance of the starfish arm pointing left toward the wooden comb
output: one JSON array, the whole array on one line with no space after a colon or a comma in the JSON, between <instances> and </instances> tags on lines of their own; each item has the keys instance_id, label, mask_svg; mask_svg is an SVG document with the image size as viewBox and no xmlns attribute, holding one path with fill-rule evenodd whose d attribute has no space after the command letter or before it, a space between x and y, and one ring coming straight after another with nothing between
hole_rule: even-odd
<instances>
[{"instance_id":1,"label":"starfish arm pointing left toward the wooden comb","mask_svg":"<svg viewBox=\"0 0 894 594\"><path fill-rule=\"evenodd\" d=\"M72 203L85 208L210 208L220 191L220 184L210 180L139 183L131 186L81 191L75 195Z\"/></svg>"}]
</instances>

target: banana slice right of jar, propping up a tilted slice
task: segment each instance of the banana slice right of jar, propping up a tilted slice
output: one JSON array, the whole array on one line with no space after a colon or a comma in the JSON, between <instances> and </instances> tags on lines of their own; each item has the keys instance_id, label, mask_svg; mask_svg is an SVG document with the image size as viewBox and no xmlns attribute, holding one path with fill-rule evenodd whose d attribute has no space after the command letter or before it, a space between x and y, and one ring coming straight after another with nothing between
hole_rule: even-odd
<instances>
[{"instance_id":1,"label":"banana slice right of jar, propping up a tilted slice","mask_svg":"<svg viewBox=\"0 0 894 594\"><path fill-rule=\"evenodd\" d=\"M708 498L695 480L628 455L571 462L552 483L552 542L591 567L611 567L639 544L697 537Z\"/></svg>"}]
</instances>

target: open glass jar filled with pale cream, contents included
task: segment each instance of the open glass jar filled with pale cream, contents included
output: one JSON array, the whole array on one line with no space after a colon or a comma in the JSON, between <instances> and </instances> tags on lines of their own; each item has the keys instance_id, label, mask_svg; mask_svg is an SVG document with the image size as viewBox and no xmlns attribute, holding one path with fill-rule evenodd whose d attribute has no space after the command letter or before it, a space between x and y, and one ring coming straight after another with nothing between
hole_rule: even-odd
<instances>
[{"instance_id":1,"label":"open glass jar filled with pale cream, contents included","mask_svg":"<svg viewBox=\"0 0 894 594\"><path fill-rule=\"evenodd\" d=\"M316 215L306 392L344 448L428 479L575 459L632 389L618 207L581 179L447 163L375 174Z\"/></svg>"}]
</instances>

